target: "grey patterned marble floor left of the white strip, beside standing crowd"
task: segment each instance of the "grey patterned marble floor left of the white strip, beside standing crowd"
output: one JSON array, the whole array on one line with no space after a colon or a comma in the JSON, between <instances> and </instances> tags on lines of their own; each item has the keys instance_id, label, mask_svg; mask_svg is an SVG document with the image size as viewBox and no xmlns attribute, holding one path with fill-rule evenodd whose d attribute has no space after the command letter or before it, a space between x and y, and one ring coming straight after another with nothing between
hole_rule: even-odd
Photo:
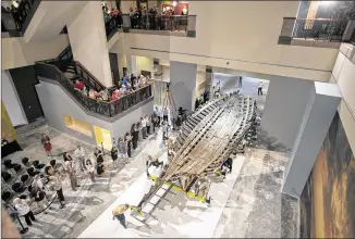
<instances>
[{"instance_id":1,"label":"grey patterned marble floor left of the white strip, beside standing crowd","mask_svg":"<svg viewBox=\"0 0 355 239\"><path fill-rule=\"evenodd\" d=\"M61 163L63 163L62 153L73 153L76 143L78 143L75 138L48 127L44 120L20 127L16 131L19 141L24 150L15 152L3 160L11 159L13 162L21 163L21 159L27 156L29 160L39 160L41 163L48 164L51 159L46 155L41 147L40 136L42 133L46 133L51 138L54 159ZM86 173L78 173L81 187L77 191L73 191L70 187L69 178L64 178L63 194L65 197L65 207L59 209L60 204L54 200L51 209L46 210L47 214L40 213L36 215L37 222L28 227L29 230L25 237L76 238L138 175L145 172L144 159L148 154L163 154L166 148L161 146L161 131L158 131L147 140L142 141L138 144L139 148L133 152L132 160L127 163L121 162L118 168L113 168L111 158L105 155L105 164L108 165L109 169L102 177L97 177L95 184L91 184ZM88 156L93 155L95 147L82 144L86 154ZM79 168L77 168L77 172L79 172ZM50 192L49 194L51 196ZM36 207L36 205L33 206ZM23 218L22 221L24 223Z\"/></svg>"}]
</instances>

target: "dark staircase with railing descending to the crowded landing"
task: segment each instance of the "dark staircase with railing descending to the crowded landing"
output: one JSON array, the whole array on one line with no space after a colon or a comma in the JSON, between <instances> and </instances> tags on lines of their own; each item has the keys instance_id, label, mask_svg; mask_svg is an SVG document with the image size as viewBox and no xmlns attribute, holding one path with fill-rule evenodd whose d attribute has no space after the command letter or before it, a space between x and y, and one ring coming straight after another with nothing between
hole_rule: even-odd
<instances>
[{"instance_id":1,"label":"dark staircase with railing descending to the crowded landing","mask_svg":"<svg viewBox=\"0 0 355 239\"><path fill-rule=\"evenodd\" d=\"M111 101L90 99L82 91L75 90L74 84L76 79L83 80L87 88L97 92L108 90L109 95L111 95L114 87L106 88L84 65L74 61L71 46L66 47L56 59L36 62L36 74L37 77L58 81L64 88L63 90L71 95L76 103L81 104L86 111L109 118L152 98L151 84Z\"/></svg>"}]
</instances>

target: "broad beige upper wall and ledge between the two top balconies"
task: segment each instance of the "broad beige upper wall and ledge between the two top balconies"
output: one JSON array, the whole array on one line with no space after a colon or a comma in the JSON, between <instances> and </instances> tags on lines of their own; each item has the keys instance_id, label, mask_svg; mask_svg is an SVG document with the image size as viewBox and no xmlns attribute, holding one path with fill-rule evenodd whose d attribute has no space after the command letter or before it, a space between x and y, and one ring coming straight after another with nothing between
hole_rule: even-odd
<instances>
[{"instance_id":1,"label":"broad beige upper wall and ledge between the two top balconies","mask_svg":"<svg viewBox=\"0 0 355 239\"><path fill-rule=\"evenodd\" d=\"M193 1L196 38L119 34L133 55L329 81L338 49L278 45L284 16L297 1ZM123 50L124 49L124 50Z\"/></svg>"}]
</instances>

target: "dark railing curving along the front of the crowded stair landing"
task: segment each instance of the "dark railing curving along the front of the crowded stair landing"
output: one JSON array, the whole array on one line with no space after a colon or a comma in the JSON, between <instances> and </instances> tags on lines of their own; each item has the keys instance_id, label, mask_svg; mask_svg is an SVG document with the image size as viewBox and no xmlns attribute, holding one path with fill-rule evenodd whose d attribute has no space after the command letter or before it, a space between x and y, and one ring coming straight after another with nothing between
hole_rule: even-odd
<instances>
[{"instance_id":1,"label":"dark railing curving along the front of the crowded stair landing","mask_svg":"<svg viewBox=\"0 0 355 239\"><path fill-rule=\"evenodd\" d=\"M148 84L117 100L99 101L75 90L73 83L53 64L37 62L36 72L37 76L53 79L61 84L86 110L107 117L113 117L151 97L151 85Z\"/></svg>"}]
</instances>

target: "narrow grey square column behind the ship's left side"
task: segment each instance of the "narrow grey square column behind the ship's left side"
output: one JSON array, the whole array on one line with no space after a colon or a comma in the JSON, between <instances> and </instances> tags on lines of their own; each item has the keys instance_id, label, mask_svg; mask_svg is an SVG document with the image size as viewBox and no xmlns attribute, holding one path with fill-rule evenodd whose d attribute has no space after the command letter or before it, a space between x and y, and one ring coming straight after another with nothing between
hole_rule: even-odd
<instances>
[{"instance_id":1,"label":"narrow grey square column behind the ship's left side","mask_svg":"<svg viewBox=\"0 0 355 239\"><path fill-rule=\"evenodd\" d=\"M170 61L170 90L176 109L195 110L196 74L196 64Z\"/></svg>"}]
</instances>

